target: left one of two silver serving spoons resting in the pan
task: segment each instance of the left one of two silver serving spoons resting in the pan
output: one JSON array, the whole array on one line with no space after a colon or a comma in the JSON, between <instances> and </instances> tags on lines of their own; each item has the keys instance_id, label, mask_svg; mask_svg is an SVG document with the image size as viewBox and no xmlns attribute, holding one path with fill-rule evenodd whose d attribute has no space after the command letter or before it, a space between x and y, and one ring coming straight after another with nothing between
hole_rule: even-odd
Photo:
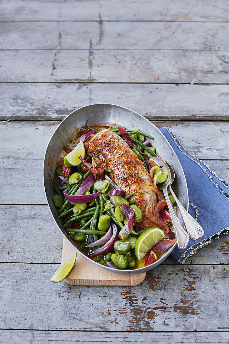
<instances>
[{"instance_id":1,"label":"left one of two silver serving spoons resting in the pan","mask_svg":"<svg viewBox=\"0 0 229 344\"><path fill-rule=\"evenodd\" d=\"M184 228L182 227L180 220L176 216L176 213L175 213L173 206L170 202L170 199L168 197L167 187L168 187L168 185L172 184L172 182L174 181L174 178L171 179L170 169L168 168L167 163L163 159L161 159L155 155L155 156L151 157L150 160L154 161L158 166L163 166L161 168L161 170L163 172L165 172L168 176L167 180L164 183L157 184L157 187L158 187L158 189L163 190L163 193L165 195L165 200L167 202L167 206L168 206L168 209L170 211L171 218L172 218L172 223L173 223L173 226L176 230L177 246L181 249L185 249L188 245L189 237L188 237L186 230L184 230Z\"/></svg>"}]
</instances>

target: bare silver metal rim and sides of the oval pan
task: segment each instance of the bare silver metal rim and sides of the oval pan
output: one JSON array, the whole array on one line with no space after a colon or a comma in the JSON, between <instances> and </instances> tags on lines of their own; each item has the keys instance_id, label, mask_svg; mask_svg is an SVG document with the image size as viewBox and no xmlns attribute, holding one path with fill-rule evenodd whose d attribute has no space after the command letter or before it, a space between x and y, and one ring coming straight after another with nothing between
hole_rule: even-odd
<instances>
[{"instance_id":1,"label":"bare silver metal rim and sides of the oval pan","mask_svg":"<svg viewBox=\"0 0 229 344\"><path fill-rule=\"evenodd\" d=\"M174 191L177 197L179 198L179 201L184 205L185 209L188 210L188 189L182 166L174 150L170 146L170 143L160 132L160 130L157 129L148 119L144 118L137 112L134 112L128 108L112 104L93 104L84 106L70 113L70 115L68 115L56 128L50 141L48 142L43 164L43 182L47 204L52 214L53 220L55 221L57 227L59 228L59 230L61 230L62 234L65 236L67 241L70 243L70 245L72 245L77 250L77 248L74 245L74 242L71 240L71 238L68 237L67 234L65 234L65 230L61 228L61 221L55 219L55 217L53 216L53 214L56 213L56 209L52 201L52 198L54 196L54 190L48 173L50 173L52 177L54 176L59 151L63 150L63 146L65 146L66 143L73 138L73 136L76 134L77 129L85 126L87 120L89 126L102 122L114 122L128 129L139 128L143 132L153 136L154 140L151 142L153 146L156 148L157 154L159 154L165 161L170 163L175 171L176 178L173 183ZM174 244L170 249L168 249L165 255L163 255L160 259L158 259L150 266L136 270L112 269L109 267L102 266L101 264L98 264L95 261L92 261L90 258L85 256L78 250L77 254L80 254L85 259L90 261L91 264L96 264L102 269L113 271L119 274L134 275L151 270L155 268L157 265L161 264L161 262L171 254L175 246L176 244Z\"/></svg>"}]
</instances>

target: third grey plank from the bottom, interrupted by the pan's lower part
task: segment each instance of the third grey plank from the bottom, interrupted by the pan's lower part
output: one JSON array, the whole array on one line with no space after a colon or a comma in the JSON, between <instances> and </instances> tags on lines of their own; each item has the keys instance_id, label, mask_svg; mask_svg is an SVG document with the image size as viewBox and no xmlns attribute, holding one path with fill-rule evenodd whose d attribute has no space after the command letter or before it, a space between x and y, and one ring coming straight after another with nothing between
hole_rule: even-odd
<instances>
[{"instance_id":1,"label":"third grey plank from the bottom, interrupted by the pan's lower part","mask_svg":"<svg viewBox=\"0 0 229 344\"><path fill-rule=\"evenodd\" d=\"M47 206L0 206L0 262L61 264L63 235ZM168 257L162 265L179 265ZM212 241L185 263L229 264L228 235Z\"/></svg>"}]
</instances>

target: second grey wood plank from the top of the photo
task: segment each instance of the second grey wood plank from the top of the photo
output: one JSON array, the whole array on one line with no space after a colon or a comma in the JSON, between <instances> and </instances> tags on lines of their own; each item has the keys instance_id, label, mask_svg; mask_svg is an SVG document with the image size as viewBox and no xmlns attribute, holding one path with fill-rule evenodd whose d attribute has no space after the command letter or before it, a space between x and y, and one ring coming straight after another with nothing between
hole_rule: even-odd
<instances>
[{"instance_id":1,"label":"second grey wood plank from the top of the photo","mask_svg":"<svg viewBox=\"0 0 229 344\"><path fill-rule=\"evenodd\" d=\"M7 22L0 49L228 50L229 23Z\"/></svg>"}]
</instances>

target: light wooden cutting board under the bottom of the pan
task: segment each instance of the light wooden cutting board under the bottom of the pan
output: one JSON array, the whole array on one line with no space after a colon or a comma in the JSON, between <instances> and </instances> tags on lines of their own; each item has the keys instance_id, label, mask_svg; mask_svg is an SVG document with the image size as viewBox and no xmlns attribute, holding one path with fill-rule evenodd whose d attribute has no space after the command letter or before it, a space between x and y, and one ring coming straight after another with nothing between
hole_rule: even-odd
<instances>
[{"instance_id":1,"label":"light wooden cutting board under the bottom of the pan","mask_svg":"<svg viewBox=\"0 0 229 344\"><path fill-rule=\"evenodd\" d=\"M74 253L74 248L64 238L61 264ZM119 275L97 268L81 255L64 281L72 286L137 286L145 278L145 272L138 275Z\"/></svg>"}]
</instances>

